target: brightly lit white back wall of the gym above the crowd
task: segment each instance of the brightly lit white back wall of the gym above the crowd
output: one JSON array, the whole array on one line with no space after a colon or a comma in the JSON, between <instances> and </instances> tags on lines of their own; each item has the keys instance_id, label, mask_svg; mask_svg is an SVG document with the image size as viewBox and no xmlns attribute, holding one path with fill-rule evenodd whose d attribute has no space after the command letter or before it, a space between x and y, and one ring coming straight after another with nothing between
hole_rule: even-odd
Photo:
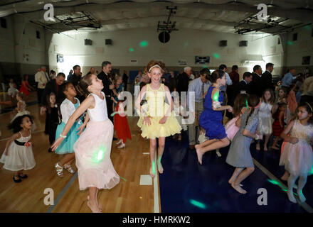
<instances>
[{"instance_id":1,"label":"brightly lit white back wall of the gym above the crowd","mask_svg":"<svg viewBox=\"0 0 313 227\"><path fill-rule=\"evenodd\" d=\"M228 67L247 67L250 71L256 63L261 64L265 70L266 62L271 61L277 71L274 71L274 74L280 74L282 45L277 45L278 36L265 36L266 34L238 35L180 29L171 33L169 43L163 44L159 42L155 28L141 28L102 33L71 31L66 35L54 34L51 43L47 45L49 65L65 73L69 72L73 65L96 67L104 60L112 62L114 67L134 66L130 60L137 60L139 69L152 59L163 60L168 67L178 67L179 60L186 60L187 65L191 67L203 66L194 63L194 56L200 55L211 57L207 67L218 67L224 63ZM92 40L91 46L84 45L85 38ZM112 46L105 45L106 38L112 39ZM140 47L139 43L143 40L147 41L147 47ZM228 40L228 46L219 47L220 40ZM248 40L248 47L239 47L240 40ZM129 48L134 48L134 52L129 52ZM57 64L57 54L63 54L63 64ZM259 62L243 65L241 62L245 60ZM262 60L263 62L260 62Z\"/></svg>"}]
</instances>

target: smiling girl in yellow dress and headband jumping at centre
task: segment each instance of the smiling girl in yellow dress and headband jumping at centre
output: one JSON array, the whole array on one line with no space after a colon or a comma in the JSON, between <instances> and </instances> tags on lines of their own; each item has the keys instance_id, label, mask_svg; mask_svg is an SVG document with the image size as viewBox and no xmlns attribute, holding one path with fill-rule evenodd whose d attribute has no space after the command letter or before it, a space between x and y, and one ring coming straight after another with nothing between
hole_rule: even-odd
<instances>
[{"instance_id":1,"label":"smiling girl in yellow dress and headband jumping at centre","mask_svg":"<svg viewBox=\"0 0 313 227\"><path fill-rule=\"evenodd\" d=\"M144 72L149 75L151 83L142 87L135 104L140 116L137 126L142 129L142 137L150 139L151 167L149 173L151 177L156 175L154 155L157 138L159 138L157 167L159 173L163 173L161 157L164 152L165 138L181 131L181 126L174 116L173 100L169 88L160 83L163 68L163 62L152 60L148 63ZM147 104L140 106L144 96L146 96ZM169 104L165 102L165 97Z\"/></svg>"}]
</instances>

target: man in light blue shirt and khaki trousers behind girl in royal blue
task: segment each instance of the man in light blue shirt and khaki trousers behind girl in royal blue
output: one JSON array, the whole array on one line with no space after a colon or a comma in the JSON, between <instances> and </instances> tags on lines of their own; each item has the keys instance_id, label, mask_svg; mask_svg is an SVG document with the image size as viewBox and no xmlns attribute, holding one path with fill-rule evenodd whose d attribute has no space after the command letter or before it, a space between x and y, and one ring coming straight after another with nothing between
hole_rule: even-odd
<instances>
[{"instance_id":1,"label":"man in light blue shirt and khaki trousers behind girl in royal blue","mask_svg":"<svg viewBox=\"0 0 313 227\"><path fill-rule=\"evenodd\" d=\"M200 77L193 79L188 87L187 106L189 107L189 111L195 117L193 123L188 126L190 149L194 149L194 146L196 145L196 140L200 132L200 126L198 126L198 130L196 132L196 122L197 118L200 117L203 111L203 95L208 91L208 88L211 86L211 82L208 81L209 76L210 70L208 70L207 68L202 69L200 71ZM189 106L189 99L191 99L192 97L191 92L194 92L194 106L193 103L191 103L191 106Z\"/></svg>"}]
</instances>

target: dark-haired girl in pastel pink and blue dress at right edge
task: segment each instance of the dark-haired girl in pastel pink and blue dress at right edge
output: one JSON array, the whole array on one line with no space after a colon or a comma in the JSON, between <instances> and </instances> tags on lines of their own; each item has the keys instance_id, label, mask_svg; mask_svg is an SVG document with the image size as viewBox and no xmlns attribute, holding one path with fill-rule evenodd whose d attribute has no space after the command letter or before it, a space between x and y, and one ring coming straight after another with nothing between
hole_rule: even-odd
<instances>
[{"instance_id":1,"label":"dark-haired girl in pastel pink and blue dress at right edge","mask_svg":"<svg viewBox=\"0 0 313 227\"><path fill-rule=\"evenodd\" d=\"M290 133L290 136L287 135ZM280 165L285 165L285 170L290 172L288 177L288 198L297 203L292 188L299 178L297 194L301 202L305 201L302 189L307 182L307 175L312 170L313 153L313 110L309 103L300 104L298 107L297 119L291 121L282 133L287 143L280 157Z\"/></svg>"}]
</instances>

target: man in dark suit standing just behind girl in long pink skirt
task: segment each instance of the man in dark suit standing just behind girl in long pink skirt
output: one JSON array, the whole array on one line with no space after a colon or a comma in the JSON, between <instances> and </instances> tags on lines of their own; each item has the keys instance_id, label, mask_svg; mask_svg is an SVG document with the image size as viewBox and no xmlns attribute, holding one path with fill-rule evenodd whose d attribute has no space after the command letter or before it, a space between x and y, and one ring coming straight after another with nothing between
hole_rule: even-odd
<instances>
[{"instance_id":1,"label":"man in dark suit standing just behind girl in long pink skirt","mask_svg":"<svg viewBox=\"0 0 313 227\"><path fill-rule=\"evenodd\" d=\"M105 93L105 101L107 102L107 117L113 123L113 117L111 116L111 114L113 113L111 97L113 94L112 89L114 89L114 85L112 85L112 81L109 76L111 71L112 71L111 62L108 61L102 62L102 71L97 75L97 77L102 80L103 84L102 92Z\"/></svg>"}]
</instances>

